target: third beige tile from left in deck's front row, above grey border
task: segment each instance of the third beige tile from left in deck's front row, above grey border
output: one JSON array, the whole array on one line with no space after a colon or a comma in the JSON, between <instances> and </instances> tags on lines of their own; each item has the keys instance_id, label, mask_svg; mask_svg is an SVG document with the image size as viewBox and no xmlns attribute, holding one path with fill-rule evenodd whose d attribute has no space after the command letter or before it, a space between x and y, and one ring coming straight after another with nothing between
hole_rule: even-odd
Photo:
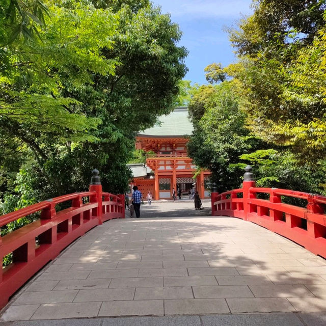
<instances>
[{"instance_id":1,"label":"third beige tile from left in deck's front row, above grey border","mask_svg":"<svg viewBox=\"0 0 326 326\"><path fill-rule=\"evenodd\" d=\"M163 300L107 301L103 302L99 316L164 315Z\"/></svg>"}]
</instances>

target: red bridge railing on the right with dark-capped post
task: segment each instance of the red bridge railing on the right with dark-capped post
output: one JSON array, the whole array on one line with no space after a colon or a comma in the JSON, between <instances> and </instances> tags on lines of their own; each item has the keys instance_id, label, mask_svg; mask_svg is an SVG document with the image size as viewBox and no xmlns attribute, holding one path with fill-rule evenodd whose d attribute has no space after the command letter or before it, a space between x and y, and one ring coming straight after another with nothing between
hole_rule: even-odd
<instances>
[{"instance_id":1,"label":"red bridge railing on the right with dark-capped post","mask_svg":"<svg viewBox=\"0 0 326 326\"><path fill-rule=\"evenodd\" d=\"M242 188L222 194L212 192L212 215L253 222L326 258L326 197L287 189L257 188L251 167L246 169ZM257 198L257 194L269 199ZM288 197L306 201L305 207L282 202Z\"/></svg>"}]
</instances>

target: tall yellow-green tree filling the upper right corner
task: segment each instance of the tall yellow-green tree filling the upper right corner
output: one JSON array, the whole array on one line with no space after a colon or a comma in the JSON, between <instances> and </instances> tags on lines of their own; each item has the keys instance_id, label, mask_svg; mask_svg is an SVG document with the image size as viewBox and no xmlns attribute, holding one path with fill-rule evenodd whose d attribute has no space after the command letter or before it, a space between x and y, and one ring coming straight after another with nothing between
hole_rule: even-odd
<instances>
[{"instance_id":1,"label":"tall yellow-green tree filling the upper right corner","mask_svg":"<svg viewBox=\"0 0 326 326\"><path fill-rule=\"evenodd\" d=\"M318 65L315 61L312 66L308 58L314 58L316 38L321 41L318 35L323 30L326 4L317 0L257 0L253 8L254 14L242 19L238 30L230 31L239 62L226 69L246 97L241 108L248 114L247 124L270 144L289 146L303 161L318 160L324 155L324 103L307 101L312 93L304 94L300 84L302 69L310 82L309 68ZM315 50L315 55L322 51L320 44Z\"/></svg>"}]
</instances>

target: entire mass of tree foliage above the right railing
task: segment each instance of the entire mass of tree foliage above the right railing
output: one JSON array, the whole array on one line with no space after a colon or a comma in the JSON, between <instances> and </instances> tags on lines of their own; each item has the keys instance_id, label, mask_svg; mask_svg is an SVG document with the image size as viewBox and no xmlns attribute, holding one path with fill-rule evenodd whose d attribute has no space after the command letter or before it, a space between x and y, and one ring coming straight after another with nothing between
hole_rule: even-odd
<instances>
[{"instance_id":1,"label":"entire mass of tree foliage above the right railing","mask_svg":"<svg viewBox=\"0 0 326 326\"><path fill-rule=\"evenodd\" d=\"M240 186L250 164L259 186L325 194L326 3L255 0L253 9L228 30L237 61L209 65L212 85L189 103L189 153L219 191Z\"/></svg>"}]
</instances>

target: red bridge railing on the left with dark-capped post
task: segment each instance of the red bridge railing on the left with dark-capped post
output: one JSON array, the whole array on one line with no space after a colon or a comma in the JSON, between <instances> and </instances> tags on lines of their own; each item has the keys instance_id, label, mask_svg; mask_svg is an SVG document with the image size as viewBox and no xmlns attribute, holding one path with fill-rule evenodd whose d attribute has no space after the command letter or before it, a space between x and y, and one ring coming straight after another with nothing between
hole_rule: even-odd
<instances>
[{"instance_id":1,"label":"red bridge railing on the left with dark-capped post","mask_svg":"<svg viewBox=\"0 0 326 326\"><path fill-rule=\"evenodd\" d=\"M95 171L95 172L94 172ZM0 270L0 308L9 297L71 242L104 221L124 218L124 195L102 192L98 171L90 191L60 196L0 216L0 227L40 212L40 219L3 237L0 257L12 253L13 262ZM97 178L97 179L96 179ZM56 205L71 202L56 211Z\"/></svg>"}]
</instances>

